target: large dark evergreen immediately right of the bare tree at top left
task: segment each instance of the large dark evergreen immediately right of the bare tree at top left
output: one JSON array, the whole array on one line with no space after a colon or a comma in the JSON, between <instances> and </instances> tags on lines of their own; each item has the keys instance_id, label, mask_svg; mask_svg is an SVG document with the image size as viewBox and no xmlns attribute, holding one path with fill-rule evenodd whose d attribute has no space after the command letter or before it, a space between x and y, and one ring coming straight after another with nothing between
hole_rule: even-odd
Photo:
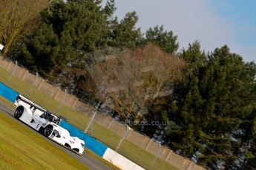
<instances>
[{"instance_id":1,"label":"large dark evergreen immediately right of the bare tree at top left","mask_svg":"<svg viewBox=\"0 0 256 170\"><path fill-rule=\"evenodd\" d=\"M19 61L71 88L85 72L82 55L105 46L106 17L95 1L51 1L42 25L28 38Z\"/></svg>"}]
</instances>

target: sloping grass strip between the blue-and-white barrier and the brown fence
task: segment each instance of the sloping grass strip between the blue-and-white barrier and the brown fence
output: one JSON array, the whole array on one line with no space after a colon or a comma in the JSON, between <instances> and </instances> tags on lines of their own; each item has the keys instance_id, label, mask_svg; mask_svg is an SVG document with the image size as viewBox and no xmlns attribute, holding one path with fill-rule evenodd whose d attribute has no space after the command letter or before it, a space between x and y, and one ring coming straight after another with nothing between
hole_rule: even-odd
<instances>
[{"instance_id":1,"label":"sloping grass strip between the blue-and-white barrier and the brown fence","mask_svg":"<svg viewBox=\"0 0 256 170\"><path fill-rule=\"evenodd\" d=\"M7 86L10 86L17 92L21 93L27 98L30 98L30 100L45 107L50 112L64 116L68 119L68 122L72 123L79 129L85 129L88 123L88 118L86 118L85 115L82 115L82 113L79 112L74 112L72 109L69 109L66 106L61 106L59 109L57 109L59 103L54 101L53 98L50 98L42 92L39 92L32 85L24 83L15 76L13 76L10 81L8 81L9 77L10 72L7 72L5 69L0 68L0 81L2 83L7 84ZM96 139L102 141L102 143L105 143L112 149L116 149L119 140L122 138L119 137L119 135L116 135L111 130L106 129L105 127L100 126L98 123L95 122L93 123L93 126L88 130L88 134L93 137L96 137ZM125 140L125 142L122 143L119 149L119 153L121 153L125 157L128 157L134 163L137 163L143 168L151 169L151 162L154 160L154 155L149 152L146 152L139 146L136 146L133 143ZM170 164L166 163L163 160L157 159L153 169L169 170L176 168L174 168L174 166L171 166Z\"/></svg>"}]
</instances>

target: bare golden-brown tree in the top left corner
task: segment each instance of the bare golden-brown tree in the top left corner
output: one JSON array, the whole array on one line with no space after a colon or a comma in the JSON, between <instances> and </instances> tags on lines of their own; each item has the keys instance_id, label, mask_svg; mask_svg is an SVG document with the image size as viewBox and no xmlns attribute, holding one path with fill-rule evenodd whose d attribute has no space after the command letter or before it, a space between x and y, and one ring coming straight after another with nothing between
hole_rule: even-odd
<instances>
[{"instance_id":1,"label":"bare golden-brown tree in the top left corner","mask_svg":"<svg viewBox=\"0 0 256 170\"><path fill-rule=\"evenodd\" d=\"M47 6L47 0L0 0L0 43L6 54L22 35L33 30L35 18Z\"/></svg>"}]
</instances>

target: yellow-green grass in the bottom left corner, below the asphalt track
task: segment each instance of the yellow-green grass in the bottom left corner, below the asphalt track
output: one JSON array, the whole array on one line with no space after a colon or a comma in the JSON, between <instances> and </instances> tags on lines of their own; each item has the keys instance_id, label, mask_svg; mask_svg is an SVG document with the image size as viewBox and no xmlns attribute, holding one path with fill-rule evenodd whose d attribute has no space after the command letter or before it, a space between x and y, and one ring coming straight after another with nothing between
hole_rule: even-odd
<instances>
[{"instance_id":1,"label":"yellow-green grass in the bottom left corner, below the asphalt track","mask_svg":"<svg viewBox=\"0 0 256 170\"><path fill-rule=\"evenodd\" d=\"M0 113L0 141L0 169L87 169L3 113Z\"/></svg>"}]
</instances>

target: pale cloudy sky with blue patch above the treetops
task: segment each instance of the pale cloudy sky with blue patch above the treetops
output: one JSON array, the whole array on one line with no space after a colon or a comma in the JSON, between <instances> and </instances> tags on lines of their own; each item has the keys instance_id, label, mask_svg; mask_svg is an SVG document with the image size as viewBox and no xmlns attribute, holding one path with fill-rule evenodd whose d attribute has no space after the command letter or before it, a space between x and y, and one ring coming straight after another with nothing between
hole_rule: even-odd
<instances>
[{"instance_id":1,"label":"pale cloudy sky with blue patch above the treetops","mask_svg":"<svg viewBox=\"0 0 256 170\"><path fill-rule=\"evenodd\" d=\"M106 0L105 0L106 1ZM227 44L244 61L256 61L255 0L116 0L116 13L136 11L142 33L163 25L178 36L180 49L200 41L211 52Z\"/></svg>"}]
</instances>

